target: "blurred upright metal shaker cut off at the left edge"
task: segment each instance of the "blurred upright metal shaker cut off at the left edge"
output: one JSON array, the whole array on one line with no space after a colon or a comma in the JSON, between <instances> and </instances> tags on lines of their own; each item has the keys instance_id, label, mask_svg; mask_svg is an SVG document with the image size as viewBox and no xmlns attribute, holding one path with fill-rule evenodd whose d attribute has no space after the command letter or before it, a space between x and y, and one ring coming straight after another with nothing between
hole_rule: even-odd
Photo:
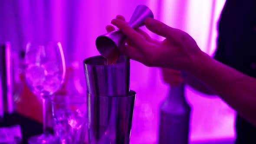
<instances>
[{"instance_id":1,"label":"blurred upright metal shaker cut off at the left edge","mask_svg":"<svg viewBox=\"0 0 256 144\"><path fill-rule=\"evenodd\" d=\"M13 79L10 43L0 45L0 117L13 112Z\"/></svg>"}]
</instances>

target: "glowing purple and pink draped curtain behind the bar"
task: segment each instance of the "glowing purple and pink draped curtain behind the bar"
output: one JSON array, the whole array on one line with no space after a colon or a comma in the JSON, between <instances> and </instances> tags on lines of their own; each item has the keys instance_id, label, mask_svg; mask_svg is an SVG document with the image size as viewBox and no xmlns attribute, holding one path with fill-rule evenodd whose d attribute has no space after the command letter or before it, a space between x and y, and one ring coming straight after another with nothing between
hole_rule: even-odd
<instances>
[{"instance_id":1,"label":"glowing purple and pink draped curtain behind the bar","mask_svg":"<svg viewBox=\"0 0 256 144\"><path fill-rule=\"evenodd\" d=\"M65 56L75 56L79 62L78 82L85 86L82 60L99 55L95 39L106 33L105 26L117 14L129 20L135 7L145 4L156 19L186 31L212 56L224 3L225 0L1 0L0 42L10 41L13 52L22 49L29 40L61 42ZM158 68L131 61L131 89L138 93L131 143L153 144L158 136L159 104L166 97L168 86L162 82ZM191 141L235 137L235 111L220 98L190 87L186 88L186 95L193 107Z\"/></svg>"}]
</instances>

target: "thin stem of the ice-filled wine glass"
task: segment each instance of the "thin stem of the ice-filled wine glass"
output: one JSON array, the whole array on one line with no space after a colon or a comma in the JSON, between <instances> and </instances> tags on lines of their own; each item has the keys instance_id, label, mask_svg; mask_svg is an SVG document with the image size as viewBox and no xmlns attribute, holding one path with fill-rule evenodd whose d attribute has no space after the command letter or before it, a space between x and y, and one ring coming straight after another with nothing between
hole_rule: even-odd
<instances>
[{"instance_id":1,"label":"thin stem of the ice-filled wine glass","mask_svg":"<svg viewBox=\"0 0 256 144\"><path fill-rule=\"evenodd\" d=\"M48 98L43 98L43 134L47 134L48 131L47 131L47 120L48 120L48 101L49 99Z\"/></svg>"}]
</instances>

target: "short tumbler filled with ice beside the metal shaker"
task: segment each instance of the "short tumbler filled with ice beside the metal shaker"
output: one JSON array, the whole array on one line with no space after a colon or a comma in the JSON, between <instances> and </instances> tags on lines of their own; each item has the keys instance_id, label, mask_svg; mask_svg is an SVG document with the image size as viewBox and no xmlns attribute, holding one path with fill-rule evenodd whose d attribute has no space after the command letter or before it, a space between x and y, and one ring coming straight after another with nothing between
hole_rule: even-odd
<instances>
[{"instance_id":1,"label":"short tumbler filled with ice beside the metal shaker","mask_svg":"<svg viewBox=\"0 0 256 144\"><path fill-rule=\"evenodd\" d=\"M59 144L87 144L87 103L85 97L52 97L54 131ZM56 142L56 143L57 143Z\"/></svg>"}]
</instances>

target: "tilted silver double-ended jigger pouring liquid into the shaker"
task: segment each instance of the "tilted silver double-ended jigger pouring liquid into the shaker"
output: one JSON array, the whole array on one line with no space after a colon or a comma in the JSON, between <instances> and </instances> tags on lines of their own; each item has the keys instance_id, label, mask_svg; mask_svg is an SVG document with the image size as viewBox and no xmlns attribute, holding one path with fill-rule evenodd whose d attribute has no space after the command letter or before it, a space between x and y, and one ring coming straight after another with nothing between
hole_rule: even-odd
<instances>
[{"instance_id":1,"label":"tilted silver double-ended jigger pouring liquid into the shaker","mask_svg":"<svg viewBox=\"0 0 256 144\"><path fill-rule=\"evenodd\" d=\"M148 17L154 18L152 11L145 5L138 5L128 25L134 29L144 26L144 21ZM118 56L119 49L125 44L125 39L126 36L121 30L117 29L102 36L98 36L96 39L96 47L102 56L106 59L111 59Z\"/></svg>"}]
</instances>

